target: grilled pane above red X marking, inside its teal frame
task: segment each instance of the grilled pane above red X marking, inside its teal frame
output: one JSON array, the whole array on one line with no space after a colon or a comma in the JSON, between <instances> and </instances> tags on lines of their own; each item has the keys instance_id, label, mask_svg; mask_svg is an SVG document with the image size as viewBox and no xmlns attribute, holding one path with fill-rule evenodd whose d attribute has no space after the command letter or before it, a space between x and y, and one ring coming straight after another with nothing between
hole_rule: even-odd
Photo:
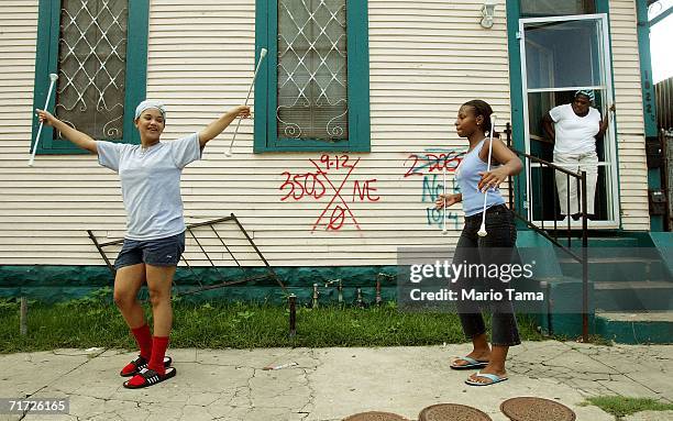
<instances>
[{"instance_id":1,"label":"grilled pane above red X marking, inside its teal frame","mask_svg":"<svg viewBox=\"0 0 673 421\"><path fill-rule=\"evenodd\" d=\"M345 0L278 1L279 139L349 139L346 45Z\"/></svg>"}]
</instances>

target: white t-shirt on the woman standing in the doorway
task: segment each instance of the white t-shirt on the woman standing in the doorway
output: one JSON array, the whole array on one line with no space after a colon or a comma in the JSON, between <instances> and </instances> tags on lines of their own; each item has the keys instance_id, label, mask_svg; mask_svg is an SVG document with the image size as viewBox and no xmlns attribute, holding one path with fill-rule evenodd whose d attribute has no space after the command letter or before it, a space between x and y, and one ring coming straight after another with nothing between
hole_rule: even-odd
<instances>
[{"instance_id":1,"label":"white t-shirt on the woman standing in the doorway","mask_svg":"<svg viewBox=\"0 0 673 421\"><path fill-rule=\"evenodd\" d=\"M596 134L600 129L600 113L589 107L588 114L580 117L570 103L554 107L549 111L554 121L556 142L554 153L585 154L596 152Z\"/></svg>"}]
</instances>

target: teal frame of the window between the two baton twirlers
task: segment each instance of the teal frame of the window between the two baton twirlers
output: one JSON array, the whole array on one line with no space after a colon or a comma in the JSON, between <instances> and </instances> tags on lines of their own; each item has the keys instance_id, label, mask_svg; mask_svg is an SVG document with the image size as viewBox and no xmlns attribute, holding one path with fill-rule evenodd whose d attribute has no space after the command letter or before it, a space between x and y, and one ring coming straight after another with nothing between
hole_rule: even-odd
<instances>
[{"instance_id":1,"label":"teal frame of the window between the two baton twirlers","mask_svg":"<svg viewBox=\"0 0 673 421\"><path fill-rule=\"evenodd\" d=\"M277 136L278 1L257 0L256 59L268 54L255 81L254 153L371 152L369 36L366 0L346 0L349 139L341 142L290 140Z\"/></svg>"}]
</instances>

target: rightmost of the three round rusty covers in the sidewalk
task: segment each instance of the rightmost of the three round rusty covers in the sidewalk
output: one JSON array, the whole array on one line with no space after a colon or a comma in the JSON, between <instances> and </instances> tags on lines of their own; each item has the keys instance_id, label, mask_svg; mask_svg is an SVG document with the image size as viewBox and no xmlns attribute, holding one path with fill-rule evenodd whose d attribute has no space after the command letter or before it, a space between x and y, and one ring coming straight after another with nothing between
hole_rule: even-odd
<instances>
[{"instance_id":1,"label":"rightmost of the three round rusty covers in the sidewalk","mask_svg":"<svg viewBox=\"0 0 673 421\"><path fill-rule=\"evenodd\" d=\"M511 398L500 403L511 421L575 421L575 412L564 405L542 398Z\"/></svg>"}]
</instances>

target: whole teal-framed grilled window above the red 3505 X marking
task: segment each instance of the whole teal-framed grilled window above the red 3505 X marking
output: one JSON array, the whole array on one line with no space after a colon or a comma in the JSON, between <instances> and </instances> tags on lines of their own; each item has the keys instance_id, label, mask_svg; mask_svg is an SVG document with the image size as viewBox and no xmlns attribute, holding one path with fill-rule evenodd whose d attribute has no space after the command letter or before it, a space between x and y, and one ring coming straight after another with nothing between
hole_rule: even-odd
<instances>
[{"instance_id":1,"label":"whole teal-framed grilled window above the red 3505 X marking","mask_svg":"<svg viewBox=\"0 0 673 421\"><path fill-rule=\"evenodd\" d=\"M369 151L366 1L257 1L255 152Z\"/></svg>"}]
</instances>

